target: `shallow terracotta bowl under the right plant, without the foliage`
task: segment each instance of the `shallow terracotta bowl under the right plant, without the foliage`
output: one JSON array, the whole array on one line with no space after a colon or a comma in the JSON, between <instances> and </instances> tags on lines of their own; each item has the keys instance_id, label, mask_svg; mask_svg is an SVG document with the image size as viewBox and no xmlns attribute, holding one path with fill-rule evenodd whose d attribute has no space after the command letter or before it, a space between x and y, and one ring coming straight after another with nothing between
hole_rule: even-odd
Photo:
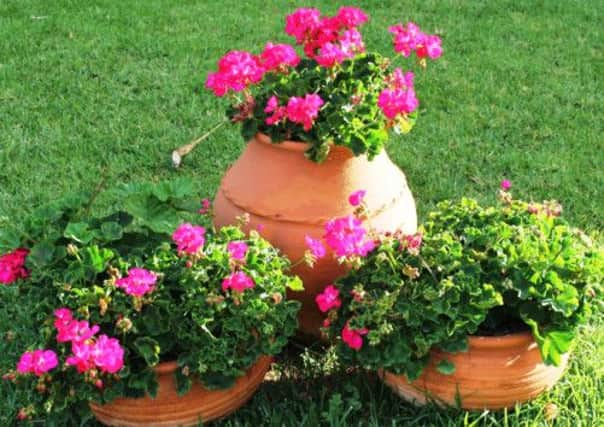
<instances>
[{"instance_id":1,"label":"shallow terracotta bowl under the right plant, without the foliage","mask_svg":"<svg viewBox=\"0 0 604 427\"><path fill-rule=\"evenodd\" d=\"M452 375L437 371L447 359ZM568 353L560 366L547 366L530 332L501 337L470 337L467 352L433 351L429 365L412 383L404 375L380 372L403 399L418 405L434 401L463 409L503 409L535 398L553 387L564 373Z\"/></svg>"}]
</instances>

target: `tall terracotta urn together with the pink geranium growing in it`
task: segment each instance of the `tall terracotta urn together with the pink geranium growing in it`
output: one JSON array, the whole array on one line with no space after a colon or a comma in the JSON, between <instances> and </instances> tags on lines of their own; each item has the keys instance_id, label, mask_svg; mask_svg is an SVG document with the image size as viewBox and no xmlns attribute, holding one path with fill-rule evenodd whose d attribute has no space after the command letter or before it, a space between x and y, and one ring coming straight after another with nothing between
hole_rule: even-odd
<instances>
[{"instance_id":1,"label":"tall terracotta urn together with the pink geranium growing in it","mask_svg":"<svg viewBox=\"0 0 604 427\"><path fill-rule=\"evenodd\" d=\"M250 227L261 225L270 242L298 259L304 236L346 215L348 194L365 188L373 227L415 231L405 176L384 151L390 131L407 133L416 121L414 74L366 51L359 28L367 20L355 7L334 16L300 8L287 16L285 32L305 59L290 45L268 42L257 55L231 51L218 61L206 87L232 101L228 120L241 123L249 144L216 194L217 225L248 213ZM441 56L440 38L412 22L389 31L400 56L413 55L424 67ZM343 270L326 258L294 271L305 284L294 295L303 303L301 330L317 334L313 299Z\"/></svg>"}]
</instances>

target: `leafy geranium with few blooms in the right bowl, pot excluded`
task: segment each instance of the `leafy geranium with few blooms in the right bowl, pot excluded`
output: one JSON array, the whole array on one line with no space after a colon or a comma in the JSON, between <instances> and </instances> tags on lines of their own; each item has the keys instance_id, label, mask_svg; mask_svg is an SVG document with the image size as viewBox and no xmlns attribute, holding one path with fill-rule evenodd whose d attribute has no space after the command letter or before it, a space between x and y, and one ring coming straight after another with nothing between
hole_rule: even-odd
<instances>
[{"instance_id":1,"label":"leafy geranium with few blooms in the right bowl, pot excluded","mask_svg":"<svg viewBox=\"0 0 604 427\"><path fill-rule=\"evenodd\" d=\"M502 182L496 206L442 202L416 234L375 235L356 268L317 295L345 363L413 380L432 349L521 331L545 363L561 363L603 306L604 248L562 219L557 202L515 200L510 188ZM438 367L454 371L446 359Z\"/></svg>"}]
</instances>

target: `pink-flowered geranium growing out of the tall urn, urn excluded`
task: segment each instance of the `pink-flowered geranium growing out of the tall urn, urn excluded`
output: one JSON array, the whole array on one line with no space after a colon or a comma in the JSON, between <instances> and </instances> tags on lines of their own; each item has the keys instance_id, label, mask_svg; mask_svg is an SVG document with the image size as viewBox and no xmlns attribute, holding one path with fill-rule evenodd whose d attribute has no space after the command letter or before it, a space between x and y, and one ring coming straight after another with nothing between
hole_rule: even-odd
<instances>
[{"instance_id":1,"label":"pink-flowered geranium growing out of the tall urn, urn excluded","mask_svg":"<svg viewBox=\"0 0 604 427\"><path fill-rule=\"evenodd\" d=\"M334 16L300 8L286 17L291 45L267 42L258 54L230 51L206 79L206 88L228 97L227 116L242 122L246 140L257 132L271 141L310 144L306 155L323 161L332 145L372 158L384 147L388 131L407 133L417 118L414 73L396 60L367 52L360 28L368 15L341 7ZM391 26L394 51L415 56L420 66L442 55L441 39L415 23Z\"/></svg>"}]
</instances>

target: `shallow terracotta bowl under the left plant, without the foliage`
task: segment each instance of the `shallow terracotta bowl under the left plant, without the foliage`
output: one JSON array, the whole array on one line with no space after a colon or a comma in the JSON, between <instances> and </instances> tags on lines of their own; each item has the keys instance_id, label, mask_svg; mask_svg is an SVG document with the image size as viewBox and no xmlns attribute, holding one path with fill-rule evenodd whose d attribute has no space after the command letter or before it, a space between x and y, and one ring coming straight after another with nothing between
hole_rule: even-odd
<instances>
[{"instance_id":1,"label":"shallow terracotta bowl under the left plant, without the foliage","mask_svg":"<svg viewBox=\"0 0 604 427\"><path fill-rule=\"evenodd\" d=\"M108 426L197 426L239 409L260 386L271 362L271 357L261 357L229 389L207 390L194 383L184 396L176 394L176 362L160 363L155 369L159 382L155 399L119 398L106 405L90 403L90 409Z\"/></svg>"}]
</instances>

